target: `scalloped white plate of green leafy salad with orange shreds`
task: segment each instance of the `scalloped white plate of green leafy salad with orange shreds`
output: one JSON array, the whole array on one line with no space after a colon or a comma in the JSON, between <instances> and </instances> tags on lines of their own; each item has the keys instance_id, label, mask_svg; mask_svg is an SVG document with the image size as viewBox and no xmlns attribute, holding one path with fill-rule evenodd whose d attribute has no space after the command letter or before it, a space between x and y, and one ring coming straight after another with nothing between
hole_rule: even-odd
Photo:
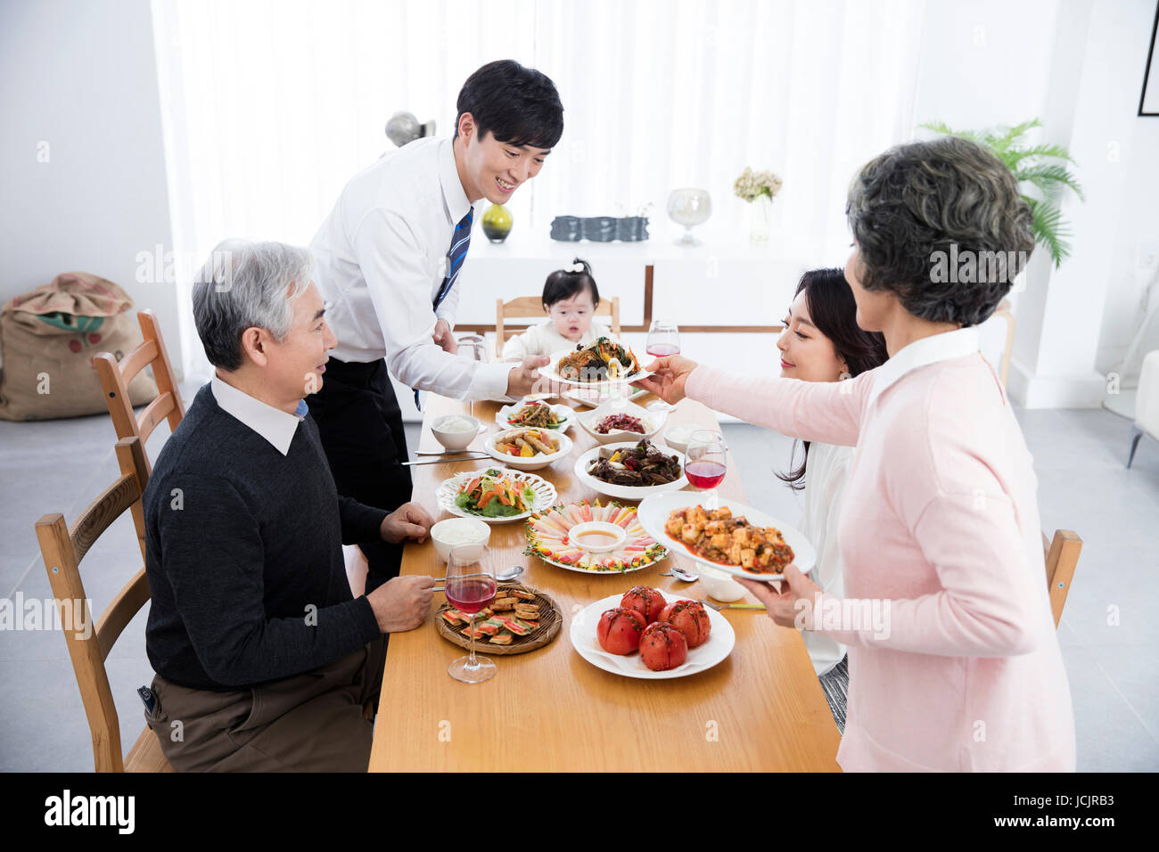
<instances>
[{"instance_id":1,"label":"scalloped white plate of green leafy salad with orange shreds","mask_svg":"<svg viewBox=\"0 0 1159 852\"><path fill-rule=\"evenodd\" d=\"M440 509L488 524L523 520L555 503L555 486L533 473L505 467L457 473L435 493Z\"/></svg>"}]
</instances>

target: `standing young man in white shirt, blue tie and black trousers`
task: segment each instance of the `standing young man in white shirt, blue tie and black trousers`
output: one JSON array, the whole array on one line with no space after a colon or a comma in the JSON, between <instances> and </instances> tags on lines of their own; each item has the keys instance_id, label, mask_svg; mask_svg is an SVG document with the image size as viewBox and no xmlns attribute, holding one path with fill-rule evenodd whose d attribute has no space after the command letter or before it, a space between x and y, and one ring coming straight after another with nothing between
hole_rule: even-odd
<instances>
[{"instance_id":1,"label":"standing young man in white shirt, blue tie and black trousers","mask_svg":"<svg viewBox=\"0 0 1159 852\"><path fill-rule=\"evenodd\" d=\"M529 393L547 363L459 358L451 329L473 205L506 203L539 173L563 132L559 93L508 59L467 78L457 107L451 139L418 139L360 172L311 243L338 345L309 409L340 493L386 510L411 489L387 371L416 391L488 399ZM367 591L399 573L401 547L359 546Z\"/></svg>"}]
</instances>

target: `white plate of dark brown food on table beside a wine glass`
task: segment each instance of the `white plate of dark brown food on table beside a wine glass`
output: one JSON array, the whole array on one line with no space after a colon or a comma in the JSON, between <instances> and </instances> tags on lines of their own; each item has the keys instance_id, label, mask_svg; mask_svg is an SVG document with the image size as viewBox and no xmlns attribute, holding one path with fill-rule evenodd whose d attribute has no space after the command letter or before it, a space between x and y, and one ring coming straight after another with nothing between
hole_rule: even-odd
<instances>
[{"instance_id":1,"label":"white plate of dark brown food on table beside a wine glass","mask_svg":"<svg viewBox=\"0 0 1159 852\"><path fill-rule=\"evenodd\" d=\"M575 473L585 486L619 500L643 500L688 485L684 456L647 438L593 446L576 460Z\"/></svg>"}]
</instances>

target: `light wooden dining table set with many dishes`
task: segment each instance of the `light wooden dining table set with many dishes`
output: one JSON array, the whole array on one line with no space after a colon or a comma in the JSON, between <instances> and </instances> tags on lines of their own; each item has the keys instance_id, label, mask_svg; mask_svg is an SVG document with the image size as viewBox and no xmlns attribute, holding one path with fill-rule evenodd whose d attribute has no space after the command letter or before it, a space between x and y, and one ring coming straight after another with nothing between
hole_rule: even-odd
<instances>
[{"instance_id":1,"label":"light wooden dining table set with many dishes","mask_svg":"<svg viewBox=\"0 0 1159 852\"><path fill-rule=\"evenodd\" d=\"M430 424L455 413L472 414L488 424L487 432L471 445L481 449L498 428L498 408L494 402L467 403L429 395L417 449L442 451ZM687 399L669 413L668 425L675 423L720 428L712 410ZM573 469L596 440L578 424L568 436L575 442L570 456L535 471L535 475L555 486L559 502L606 501L581 483ZM661 436L656 442L662 443ZM488 464L416 465L410 468L413 498L436 520L452 517L436 502L439 483ZM719 490L727 500L744 501L731 453ZM691 500L695 500L694 494L690 493ZM465 684L447 675L447 664L465 651L439 635L433 618L416 629L392 634L374 722L372 772L839 771L840 734L796 631L777 626L763 611L722 610L736 632L736 645L717 665L671 679L613 675L586 662L571 647L571 617L637 584L706 599L699 582L659 576L673 559L691 570L695 565L673 554L636 573L586 574L524 555L526 544L523 523L491 525L494 563L525 566L519 581L559 604L563 614L559 635L526 654L491 655L495 677ZM401 573L438 577L445 573L445 563L428 539L407 545ZM443 600L443 594L436 592L432 613ZM748 594L743 602L757 603ZM480 653L486 655L486 643L480 645Z\"/></svg>"}]
</instances>

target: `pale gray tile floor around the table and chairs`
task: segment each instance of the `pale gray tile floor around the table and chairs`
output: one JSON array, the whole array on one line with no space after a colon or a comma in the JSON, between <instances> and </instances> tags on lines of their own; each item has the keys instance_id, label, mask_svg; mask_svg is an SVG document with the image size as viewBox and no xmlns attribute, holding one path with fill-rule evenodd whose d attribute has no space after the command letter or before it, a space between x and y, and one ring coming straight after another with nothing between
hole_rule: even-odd
<instances>
[{"instance_id":1,"label":"pale gray tile floor around the table and chairs","mask_svg":"<svg viewBox=\"0 0 1159 852\"><path fill-rule=\"evenodd\" d=\"M194 387L182 388L187 400ZM1078 767L1159 770L1159 444L1145 440L1123 467L1130 423L1105 410L1020 412L1038 474L1043 526L1084 539L1059 639L1078 729ZM773 475L792 440L746 424L727 424L749 501L795 519L800 502ZM148 453L168 431L159 427ZM417 443L417 427L408 427ZM107 416L41 424L0 422L0 595L51 598L32 525L50 511L67 520L117 473ZM126 515L85 560L86 591L100 612L140 565ZM152 677L145 612L108 661L125 750L144 727L133 690ZM63 636L0 631L0 770L90 771L83 707Z\"/></svg>"}]
</instances>

